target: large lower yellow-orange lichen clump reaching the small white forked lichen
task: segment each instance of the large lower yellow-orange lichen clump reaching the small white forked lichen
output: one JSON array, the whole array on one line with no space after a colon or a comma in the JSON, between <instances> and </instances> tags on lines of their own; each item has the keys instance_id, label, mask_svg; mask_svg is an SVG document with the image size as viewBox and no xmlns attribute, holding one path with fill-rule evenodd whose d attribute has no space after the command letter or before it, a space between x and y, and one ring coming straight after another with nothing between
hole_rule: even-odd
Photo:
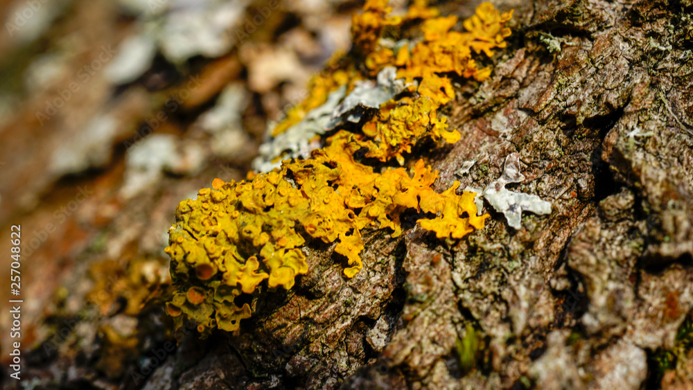
<instances>
[{"instance_id":1,"label":"large lower yellow-orange lichen clump reaching the small white forked lichen","mask_svg":"<svg viewBox=\"0 0 693 390\"><path fill-rule=\"evenodd\" d=\"M236 330L252 312L248 303L239 308L236 297L252 294L265 279L269 287L288 290L308 272L300 249L307 240L337 241L335 252L347 258L344 274L351 278L363 267L360 231L373 225L399 236L407 209L439 214L419 222L441 238L461 238L484 226L488 215L476 216L470 194L455 194L459 183L436 193L431 186L437 172L423 160L411 176L405 168L376 172L353 158L352 135L337 132L310 159L283 161L281 170L252 181L216 179L213 189L181 202L166 252L174 280L187 288L175 293L168 314L186 314L203 335L215 326ZM200 266L218 272L200 277Z\"/></svg>"}]
</instances>

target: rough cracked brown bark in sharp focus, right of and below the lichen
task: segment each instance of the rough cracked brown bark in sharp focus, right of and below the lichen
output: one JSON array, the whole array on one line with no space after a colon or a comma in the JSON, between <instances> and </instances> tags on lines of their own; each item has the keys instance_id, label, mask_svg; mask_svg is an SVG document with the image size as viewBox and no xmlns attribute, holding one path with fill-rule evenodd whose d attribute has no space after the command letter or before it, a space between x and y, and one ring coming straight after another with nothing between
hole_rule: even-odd
<instances>
[{"instance_id":1,"label":"rough cracked brown bark in sharp focus, right of and below the lichen","mask_svg":"<svg viewBox=\"0 0 693 390\"><path fill-rule=\"evenodd\" d=\"M550 215L525 213L516 230L485 204L486 228L453 241L415 226L400 238L371 231L364 269L351 279L330 247L311 247L310 273L258 301L237 334L186 335L141 381L128 375L131 367L108 382L82 362L76 365L87 376L64 375L61 383L690 386L685 354L666 373L654 357L678 345L693 307L693 3L495 6L515 10L509 47L490 80L465 87L451 103L462 141L427 157L442 190L456 179L461 188L484 188L517 153L525 181L509 189L552 202ZM473 8L443 9L465 16ZM475 162L456 173L465 161ZM172 210L154 211L166 219ZM475 348L465 350L464 340ZM78 360L42 357L33 372Z\"/></svg>"}]
</instances>

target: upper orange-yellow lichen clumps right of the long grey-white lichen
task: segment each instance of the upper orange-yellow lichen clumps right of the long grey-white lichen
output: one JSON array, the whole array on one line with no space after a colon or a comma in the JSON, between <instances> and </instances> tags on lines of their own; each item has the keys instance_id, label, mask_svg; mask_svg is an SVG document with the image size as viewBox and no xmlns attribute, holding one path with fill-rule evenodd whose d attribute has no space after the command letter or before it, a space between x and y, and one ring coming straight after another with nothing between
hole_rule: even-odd
<instances>
[{"instance_id":1,"label":"upper orange-yellow lichen clumps right of the long grey-white lichen","mask_svg":"<svg viewBox=\"0 0 693 390\"><path fill-rule=\"evenodd\" d=\"M384 11L383 2L379 2L380 11ZM371 4L367 12L375 12ZM410 152L413 145L425 136L436 140L444 139L448 143L459 140L456 131L448 131L444 120L437 120L436 111L439 106L455 98L455 91L448 73L456 73L464 78L484 80L491 74L491 69L478 69L472 52L493 54L492 49L505 47L503 40L510 34L505 28L512 12L500 13L490 3L482 3L477 7L475 15L466 19L463 26L466 33L451 30L457 24L457 17L433 17L436 12L428 11L425 3L416 2L410 13L412 18L425 19L421 24L423 41L418 42L410 51L407 45L401 46L397 53L389 47L368 46L372 51L367 55L365 65L371 69L371 74L377 73L387 65L399 67L398 76L407 82L419 80L416 90L424 99L409 99L386 102L378 116L366 123L362 132L365 137L355 136L358 145L367 148L367 157L380 161L395 158L400 165L404 162L403 153ZM378 14L380 15L380 14ZM382 21L385 17L380 17ZM369 33L377 29L371 28ZM360 30L353 30L355 42ZM369 35L371 42L373 37Z\"/></svg>"}]
</instances>

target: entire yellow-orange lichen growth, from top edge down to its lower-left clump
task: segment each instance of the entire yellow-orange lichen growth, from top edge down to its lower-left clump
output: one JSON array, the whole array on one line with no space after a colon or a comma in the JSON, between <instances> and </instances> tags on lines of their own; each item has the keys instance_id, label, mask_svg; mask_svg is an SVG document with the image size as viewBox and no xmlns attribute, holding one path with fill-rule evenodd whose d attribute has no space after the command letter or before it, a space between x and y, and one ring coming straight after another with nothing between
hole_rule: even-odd
<instances>
[{"instance_id":1,"label":"entire yellow-orange lichen growth, from top edge down to its lower-left clump","mask_svg":"<svg viewBox=\"0 0 693 390\"><path fill-rule=\"evenodd\" d=\"M332 69L331 76L314 78L310 96L274 134L301 121L338 86L374 76L385 66L398 67L398 76L407 82L418 82L416 90L410 87L383 103L358 132L337 127L319 140L324 147L308 159L282 161L281 168L249 173L243 181L215 179L195 200L180 202L166 247L178 287L166 311L179 326L192 319L203 336L213 328L237 330L240 320L251 316L263 281L269 288L288 290L297 276L309 272L302 247L312 240L334 244L334 253L346 260L344 274L352 278L363 267L362 231L372 227L400 236L403 213L428 215L417 222L438 238L458 239L484 227L489 215L477 216L474 193L457 195L457 181L436 193L432 185L438 172L422 159L405 168L405 154L425 138L459 140L438 114L441 105L455 98L451 77L489 76L490 69L477 69L472 55L491 55L493 48L505 47L505 21L511 13L500 14L483 3L464 21L467 31L459 33L452 30L456 17L436 17L437 10L426 4L416 0L405 17L389 17L386 0L368 0L352 25L353 54L365 62L364 74L347 61L347 67ZM396 53L380 46L384 30L402 28L405 20L423 20L423 41L411 50L405 44ZM362 158L396 159L402 167L370 166Z\"/></svg>"}]
</instances>

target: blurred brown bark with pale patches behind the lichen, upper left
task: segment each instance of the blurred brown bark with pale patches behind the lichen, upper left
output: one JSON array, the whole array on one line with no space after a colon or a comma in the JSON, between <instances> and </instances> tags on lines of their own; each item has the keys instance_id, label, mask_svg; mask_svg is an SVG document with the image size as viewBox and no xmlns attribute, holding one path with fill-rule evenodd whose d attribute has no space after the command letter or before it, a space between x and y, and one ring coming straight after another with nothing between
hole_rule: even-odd
<instances>
[{"instance_id":1,"label":"blurred brown bark with pale patches behind the lichen, upper left","mask_svg":"<svg viewBox=\"0 0 693 390\"><path fill-rule=\"evenodd\" d=\"M328 58L349 50L351 14L361 7L0 4L3 281L10 227L21 225L21 293L3 282L0 300L4 370L17 341L9 299L24 301L23 378L58 375L55 364L73 378L119 378L141 364L141 351L172 339L157 296L168 294L164 247L175 207L215 177L245 177L267 126L306 96ZM51 373L49 362L58 362Z\"/></svg>"}]
</instances>

